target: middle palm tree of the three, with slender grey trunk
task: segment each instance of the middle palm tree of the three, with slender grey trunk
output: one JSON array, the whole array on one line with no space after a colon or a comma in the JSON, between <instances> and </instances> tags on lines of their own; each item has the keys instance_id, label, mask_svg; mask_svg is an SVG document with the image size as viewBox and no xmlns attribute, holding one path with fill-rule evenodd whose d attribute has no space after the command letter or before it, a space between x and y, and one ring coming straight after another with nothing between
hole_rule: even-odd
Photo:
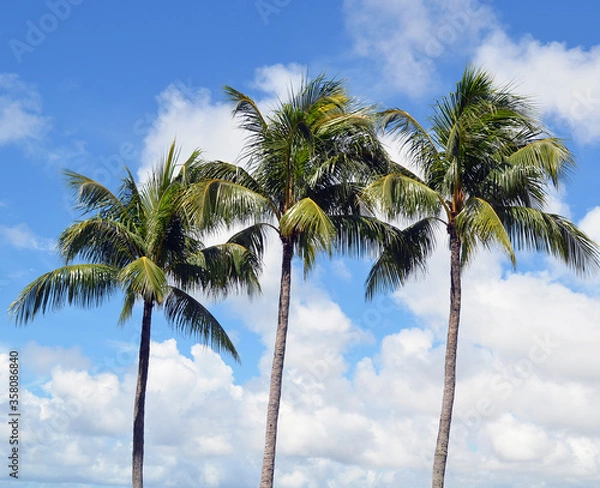
<instances>
[{"instance_id":1,"label":"middle palm tree of the three, with slender grey trunk","mask_svg":"<svg viewBox=\"0 0 600 488\"><path fill-rule=\"evenodd\" d=\"M265 116L247 95L227 87L234 115L248 132L248 166L213 162L206 180L190 192L200 202L203 225L245 222L249 238L272 229L282 244L277 331L267 408L261 488L273 486L277 424L291 295L292 259L305 275L319 252L361 253L386 236L387 227L360 203L362 182L388 171L371 112L357 104L339 81L305 80ZM400 232L387 236L402 240ZM419 253L412 255L418 260Z\"/></svg>"}]
</instances>

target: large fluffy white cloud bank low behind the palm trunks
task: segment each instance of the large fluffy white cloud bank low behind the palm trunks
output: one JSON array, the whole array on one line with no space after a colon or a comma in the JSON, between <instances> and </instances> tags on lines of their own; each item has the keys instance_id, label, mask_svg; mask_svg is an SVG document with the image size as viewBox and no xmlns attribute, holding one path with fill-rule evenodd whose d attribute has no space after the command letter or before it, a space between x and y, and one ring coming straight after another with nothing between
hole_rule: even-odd
<instances>
[{"instance_id":1,"label":"large fluffy white cloud bank low behind the palm trunks","mask_svg":"<svg viewBox=\"0 0 600 488\"><path fill-rule=\"evenodd\" d=\"M268 259L276 269L277 253ZM600 482L600 302L548 274L504 273L502 263L482 255L465 274L449 483L592 486ZM352 365L348 355L370 334L318 279L304 282L294 271L278 484L425 486L441 398L447 276L432 268L432 276L398 294L412 319ZM152 344L149 483L255 485L276 316L272 281L262 299L231 304L267 345L258 377L239 383L199 345L184 355L172 339ZM415 300L424 295L430 301ZM125 486L135 371L90 374L71 364L49 372L43 395L24 395L31 479ZM68 480L59 478L61 469Z\"/></svg>"}]
</instances>

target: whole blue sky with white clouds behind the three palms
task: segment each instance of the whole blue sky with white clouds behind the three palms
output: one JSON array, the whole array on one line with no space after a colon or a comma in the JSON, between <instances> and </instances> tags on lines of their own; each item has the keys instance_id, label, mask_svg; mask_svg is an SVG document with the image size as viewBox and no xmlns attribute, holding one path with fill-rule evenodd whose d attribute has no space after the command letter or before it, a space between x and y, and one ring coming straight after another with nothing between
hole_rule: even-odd
<instances>
[{"instance_id":1,"label":"whole blue sky with white clouds behind the three palms","mask_svg":"<svg viewBox=\"0 0 600 488\"><path fill-rule=\"evenodd\" d=\"M424 123L467 63L513 82L579 166L552 208L600 239L592 2L48 0L0 9L4 309L61 264L55 239L78 218L64 168L116 188L125 165L143 176L175 137L183 156L199 147L235 161L243 135L222 87L268 110L306 71L346 79L365 102ZM273 239L261 297L211 304L241 365L155 314L146 486L258 484L280 259ZM514 271L501 254L480 253L464 274L447 486L599 486L600 277L581 280L528 253L518 260ZM279 488L429 485L448 261L441 235L426 276L371 303L368 260L321 259L307 281L294 266ZM120 328L119 309L117 299L26 327L0 321L0 457L16 350L23 488L128 485L140 311ZM8 482L0 468L0 485Z\"/></svg>"}]
</instances>

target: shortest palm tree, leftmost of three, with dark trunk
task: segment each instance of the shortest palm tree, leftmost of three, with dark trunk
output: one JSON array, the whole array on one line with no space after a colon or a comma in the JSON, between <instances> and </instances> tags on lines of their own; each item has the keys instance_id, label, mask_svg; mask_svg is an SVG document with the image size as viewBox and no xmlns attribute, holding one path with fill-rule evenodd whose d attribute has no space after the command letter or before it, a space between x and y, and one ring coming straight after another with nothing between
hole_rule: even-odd
<instances>
[{"instance_id":1,"label":"shortest palm tree, leftmost of three, with dark trunk","mask_svg":"<svg viewBox=\"0 0 600 488\"><path fill-rule=\"evenodd\" d=\"M60 235L58 248L65 266L46 273L11 304L17 323L65 304L98 306L118 291L124 296L119 323L131 317L134 304L143 304L138 379L134 402L132 486L143 486L144 408L150 358L150 324L154 308L167 322L196 336L216 351L239 361L238 353L217 319L193 296L259 289L256 271L262 243L252 250L243 239L204 247L184 211L182 195L194 181L201 161L197 152L179 169L174 144L165 161L138 187L127 171L120 191L113 194L100 183L67 171L78 207L93 214ZM80 258L84 263L73 264Z\"/></svg>"}]
</instances>

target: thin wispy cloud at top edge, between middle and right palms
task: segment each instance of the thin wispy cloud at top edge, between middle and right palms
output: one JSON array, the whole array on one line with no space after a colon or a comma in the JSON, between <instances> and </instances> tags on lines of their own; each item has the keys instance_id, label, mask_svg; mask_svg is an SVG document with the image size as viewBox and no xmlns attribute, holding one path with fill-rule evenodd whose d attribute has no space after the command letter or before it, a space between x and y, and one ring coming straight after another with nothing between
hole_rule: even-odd
<instances>
[{"instance_id":1,"label":"thin wispy cloud at top edge, between middle and right palms","mask_svg":"<svg viewBox=\"0 0 600 488\"><path fill-rule=\"evenodd\" d=\"M476 0L346 0L355 53L375 62L387 87L422 95L436 83L436 61L476 45L496 21Z\"/></svg>"}]
</instances>

